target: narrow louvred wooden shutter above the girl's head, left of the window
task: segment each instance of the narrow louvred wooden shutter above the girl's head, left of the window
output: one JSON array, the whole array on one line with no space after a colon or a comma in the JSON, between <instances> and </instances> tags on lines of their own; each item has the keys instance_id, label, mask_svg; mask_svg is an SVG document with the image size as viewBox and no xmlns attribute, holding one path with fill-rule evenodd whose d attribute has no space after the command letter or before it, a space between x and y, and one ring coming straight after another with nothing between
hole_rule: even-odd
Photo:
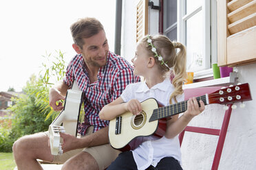
<instances>
[{"instance_id":1,"label":"narrow louvred wooden shutter above the girl's head, left of the window","mask_svg":"<svg viewBox=\"0 0 256 170\"><path fill-rule=\"evenodd\" d=\"M140 0L137 5L136 42L148 34L148 0Z\"/></svg>"}]
</instances>

